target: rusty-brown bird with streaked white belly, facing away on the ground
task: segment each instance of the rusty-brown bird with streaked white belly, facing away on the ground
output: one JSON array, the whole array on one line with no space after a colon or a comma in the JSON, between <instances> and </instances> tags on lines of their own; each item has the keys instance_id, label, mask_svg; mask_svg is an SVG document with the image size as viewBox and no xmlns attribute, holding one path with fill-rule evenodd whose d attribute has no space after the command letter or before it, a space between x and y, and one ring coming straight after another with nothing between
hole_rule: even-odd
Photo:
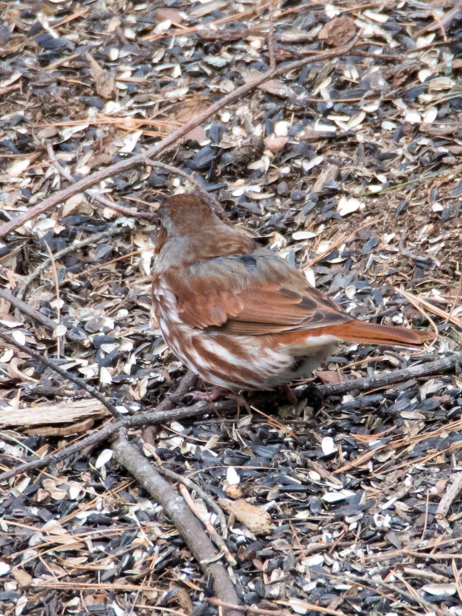
<instances>
[{"instance_id":1,"label":"rusty-brown bird with streaked white belly, facing away on the ground","mask_svg":"<svg viewBox=\"0 0 462 616\"><path fill-rule=\"evenodd\" d=\"M419 347L434 334L351 318L301 270L235 229L205 198L158 209L153 310L171 352L203 381L270 391L307 379L340 342Z\"/></svg>"}]
</instances>

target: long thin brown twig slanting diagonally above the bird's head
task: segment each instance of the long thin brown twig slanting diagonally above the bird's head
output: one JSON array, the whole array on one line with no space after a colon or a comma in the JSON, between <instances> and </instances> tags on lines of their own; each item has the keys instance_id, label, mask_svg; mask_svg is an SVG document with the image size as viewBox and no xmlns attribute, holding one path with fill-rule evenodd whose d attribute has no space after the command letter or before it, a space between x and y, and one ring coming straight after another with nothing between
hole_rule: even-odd
<instances>
[{"instance_id":1,"label":"long thin brown twig slanting diagonally above the bird's head","mask_svg":"<svg viewBox=\"0 0 462 616\"><path fill-rule=\"evenodd\" d=\"M67 188L63 188L63 190L55 192L53 195L46 198L38 205L33 206L33 208L30 208L25 213L16 216L9 222L6 222L6 224L0 227L0 238L4 237L12 230L17 229L17 227L24 224L25 222L30 221L36 216L39 216L39 214L43 214L53 206L58 205L58 203L62 203L62 201L73 197L73 195L76 195L79 192L84 192L84 190L86 190L87 188L94 186L98 182L102 182L102 180L105 180L107 177L114 176L123 171L127 171L128 169L132 169L139 164L144 164L147 158L153 158L160 155L161 153L166 153L174 148L177 148L181 140L188 134L188 132L192 131L193 128L196 128L197 126L199 126L199 124L203 123L205 120L208 120L208 118L211 118L211 116L215 115L217 111L220 111L226 105L229 105L229 103L233 102L234 100L240 99L241 97L243 97L243 95L247 94L247 92L251 91L265 81L268 81L268 79L272 79L277 75L289 73L290 71L301 68L306 64L319 62L320 60L330 60L334 57L342 57L352 49L355 42L356 41L352 41L347 46L335 49L333 51L310 55L309 57L302 58L301 60L294 60L294 62L289 62L283 67L278 67L274 69L270 68L270 70L266 71L265 73L262 73L262 75L259 75L254 79L250 79L243 86L237 87L235 90L229 92L229 94L222 97L222 99L217 100L217 102L213 103L213 105L210 105L208 109L205 109L201 113L198 113L195 118L188 121L183 126L180 126L175 131L171 132L171 134L158 142L156 145L153 145L152 147L148 148L145 152L137 154L136 156L132 156L131 158L125 158L118 163L111 164L104 169L100 169L100 171L97 171L87 177L84 177L83 179L76 182L76 184L73 184L71 186L68 186Z\"/></svg>"}]
</instances>

